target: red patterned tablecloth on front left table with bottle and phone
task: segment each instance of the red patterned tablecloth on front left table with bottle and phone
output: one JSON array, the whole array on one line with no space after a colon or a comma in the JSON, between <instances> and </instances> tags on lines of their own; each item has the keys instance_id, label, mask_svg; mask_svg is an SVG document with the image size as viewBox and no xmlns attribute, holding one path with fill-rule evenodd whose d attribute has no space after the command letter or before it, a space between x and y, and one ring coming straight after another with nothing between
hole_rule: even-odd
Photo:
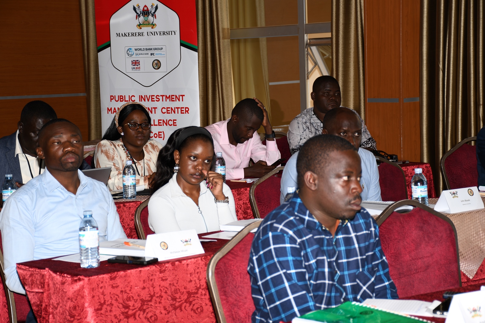
<instances>
[{"instance_id":1,"label":"red patterned tablecloth on front left table with bottle and phone","mask_svg":"<svg viewBox=\"0 0 485 323\"><path fill-rule=\"evenodd\" d=\"M226 242L203 242L202 255L147 266L102 261L83 269L44 259L18 263L17 272L39 323L212 323L207 264Z\"/></svg>"}]
</instances>

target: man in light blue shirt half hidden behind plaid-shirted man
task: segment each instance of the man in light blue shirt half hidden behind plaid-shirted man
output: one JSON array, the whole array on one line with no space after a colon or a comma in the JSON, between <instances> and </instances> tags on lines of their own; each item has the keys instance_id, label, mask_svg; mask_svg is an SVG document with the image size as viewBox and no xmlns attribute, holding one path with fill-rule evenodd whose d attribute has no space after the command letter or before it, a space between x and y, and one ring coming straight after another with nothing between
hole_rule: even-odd
<instances>
[{"instance_id":1,"label":"man in light blue shirt half hidden behind plaid-shirted man","mask_svg":"<svg viewBox=\"0 0 485 323\"><path fill-rule=\"evenodd\" d=\"M359 148L362 136L362 123L356 113L351 109L344 107L331 109L323 118L322 134L342 137L358 149L362 167L362 177L360 178L362 193L360 193L360 196L362 200L381 201L379 171L377 169L375 157L370 151ZM297 157L298 152L291 156L286 163L285 169L283 169L279 198L281 204L288 193L288 187L298 188L296 182Z\"/></svg>"}]
</instances>

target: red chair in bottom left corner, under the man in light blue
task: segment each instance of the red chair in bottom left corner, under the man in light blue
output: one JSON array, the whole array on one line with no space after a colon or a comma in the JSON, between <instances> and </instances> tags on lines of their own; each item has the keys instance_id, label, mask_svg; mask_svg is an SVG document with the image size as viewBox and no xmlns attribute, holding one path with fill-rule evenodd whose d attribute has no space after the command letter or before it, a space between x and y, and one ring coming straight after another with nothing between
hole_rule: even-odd
<instances>
[{"instance_id":1,"label":"red chair in bottom left corner, under the man in light blue","mask_svg":"<svg viewBox=\"0 0 485 323\"><path fill-rule=\"evenodd\" d=\"M3 271L5 267L3 265L3 247L1 246L1 233L0 249L0 276L3 290L5 292L4 294L0 293L0 320L2 322L9 323L25 322L25 320L27 319L27 314L29 313L31 307L25 295L12 292L7 287L5 273ZM6 302L5 306L3 306L2 304L3 302ZM6 317L6 313L2 311L2 309L4 308L8 309L8 319Z\"/></svg>"}]
</instances>

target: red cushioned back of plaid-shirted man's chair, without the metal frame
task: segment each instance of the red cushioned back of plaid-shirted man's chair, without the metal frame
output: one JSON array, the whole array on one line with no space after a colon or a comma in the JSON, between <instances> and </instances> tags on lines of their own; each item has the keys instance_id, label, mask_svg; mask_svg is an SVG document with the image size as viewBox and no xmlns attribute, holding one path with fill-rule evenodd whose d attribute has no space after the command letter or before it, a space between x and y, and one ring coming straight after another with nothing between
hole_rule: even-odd
<instances>
[{"instance_id":1,"label":"red cushioned back of plaid-shirted man's chair, without the metal frame","mask_svg":"<svg viewBox=\"0 0 485 323\"><path fill-rule=\"evenodd\" d=\"M214 274L227 323L251 322L254 307L247 273L254 233L248 233L216 264Z\"/></svg>"}]
</instances>

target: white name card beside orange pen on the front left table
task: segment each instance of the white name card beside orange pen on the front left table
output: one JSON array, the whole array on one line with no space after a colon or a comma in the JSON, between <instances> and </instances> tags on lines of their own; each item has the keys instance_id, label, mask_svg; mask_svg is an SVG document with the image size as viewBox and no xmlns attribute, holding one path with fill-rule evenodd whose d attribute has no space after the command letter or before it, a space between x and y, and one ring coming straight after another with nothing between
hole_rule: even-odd
<instances>
[{"instance_id":1,"label":"white name card beside orange pen on the front left table","mask_svg":"<svg viewBox=\"0 0 485 323\"><path fill-rule=\"evenodd\" d=\"M145 257L159 261L204 253L195 230L175 231L146 236Z\"/></svg>"}]
</instances>

